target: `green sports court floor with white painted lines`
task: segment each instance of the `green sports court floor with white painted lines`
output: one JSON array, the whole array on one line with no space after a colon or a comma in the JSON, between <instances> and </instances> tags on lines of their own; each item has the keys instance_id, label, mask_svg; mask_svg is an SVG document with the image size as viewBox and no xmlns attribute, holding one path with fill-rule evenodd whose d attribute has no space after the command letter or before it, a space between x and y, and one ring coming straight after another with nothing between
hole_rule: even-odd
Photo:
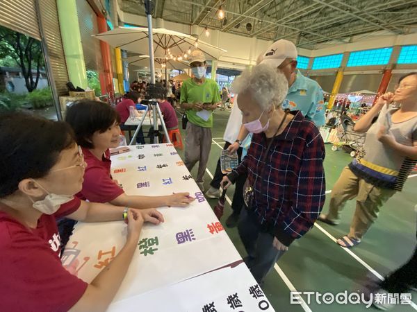
<instances>
[{"instance_id":1,"label":"green sports court floor with white painted lines","mask_svg":"<svg viewBox=\"0 0 417 312\"><path fill-rule=\"evenodd\" d=\"M180 114L178 114L181 120ZM210 159L208 161L204 184L206 189L211 182L211 175L215 172L215 166L220 157L224 145L222 140L224 128L226 128L229 112L216 111L214 113L213 144L211 146ZM181 122L180 122L181 128ZM183 139L185 134L181 130ZM332 151L330 145L326 145L325 174L327 191L332 190L332 185L338 179L344 166L351 157L342 150ZM183 157L183 151L179 151ZM192 174L197 173L197 166ZM232 198L234 189L227 193ZM350 220L354 211L354 200L347 203L342 212L342 223L332 227L324 223L316 223L302 239L295 241L286 254L284 254L275 270L272 270L265 279L263 291L268 296L276 311L377 311L373 308L366 309L363 304L316 304L314 300L309 305L290 304L290 290L293 291L318 291L320 293L341 293L343 291L354 292L363 288L367 275L379 275L398 268L411 256L416 245L416 212L417 204L417 176L411 175L405 184L404 191L395 194L384 207L375 225L370 228L363 242L351 251L339 247L335 239L347 234ZM217 200L208 200L211 207L217 204ZM328 203L325 203L323 211L327 211ZM227 203L222 218L222 223L231 213ZM223 224L224 225L224 224ZM229 229L224 225L237 250L242 257L246 256L245 249L240 242L236 227ZM417 270L417 268L416 268ZM414 302L417 303L417 293L412 293ZM304 297L306 298L306 297ZM417 305L398 305L392 311L417 311Z\"/></svg>"}]
</instances>

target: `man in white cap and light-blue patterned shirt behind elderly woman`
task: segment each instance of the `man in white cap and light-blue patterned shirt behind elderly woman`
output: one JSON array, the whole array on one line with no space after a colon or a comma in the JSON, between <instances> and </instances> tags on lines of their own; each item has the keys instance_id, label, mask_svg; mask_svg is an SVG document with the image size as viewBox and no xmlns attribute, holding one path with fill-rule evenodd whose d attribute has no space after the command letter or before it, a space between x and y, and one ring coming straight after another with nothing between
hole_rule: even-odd
<instances>
[{"instance_id":1,"label":"man in white cap and light-blue patterned shirt behind elderly woman","mask_svg":"<svg viewBox=\"0 0 417 312\"><path fill-rule=\"evenodd\" d=\"M297 68L297 48L288 40L278 40L272 44L265 53L259 55L256 60L256 64L267 64L271 67L277 68L281 73L284 73L286 80L288 80L288 94L282 108L289 108L290 110L300 110L306 119L313 121L317 127L325 124L325 110L323 101L323 92L316 83L316 81L306 78L298 71ZM230 142L225 148L231 153L238 150L245 138L248 135L248 131L243 125L240 124L240 131L235 130L238 136L235 137L236 141ZM245 140L247 141L247 140ZM240 151L240 153L242 153ZM220 166L220 162L218 164ZM211 187L206 192L208 198L218 198L220 196L220 177L221 171L216 170L215 177L211 182ZM241 183L236 182L236 191L241 193ZM235 198L241 198L242 196L234 196ZM232 214L227 218L226 225L228 227L235 227L238 223L240 211L242 209L240 204L232 203Z\"/></svg>"}]
</instances>

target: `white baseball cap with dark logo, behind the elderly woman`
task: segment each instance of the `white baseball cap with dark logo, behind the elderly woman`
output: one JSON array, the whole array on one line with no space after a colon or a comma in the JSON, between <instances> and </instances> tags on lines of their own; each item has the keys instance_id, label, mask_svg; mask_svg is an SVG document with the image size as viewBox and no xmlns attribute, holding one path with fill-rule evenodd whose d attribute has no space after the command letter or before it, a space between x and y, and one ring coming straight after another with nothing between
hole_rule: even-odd
<instances>
[{"instance_id":1,"label":"white baseball cap with dark logo, behind the elderly woman","mask_svg":"<svg viewBox=\"0 0 417 312\"><path fill-rule=\"evenodd\" d=\"M263 60L260 64L279 67L279 65L287 58L294 58L296 60L297 56L298 53L295 44L291 41L280 39L271 44L271 46L263 53Z\"/></svg>"}]
</instances>

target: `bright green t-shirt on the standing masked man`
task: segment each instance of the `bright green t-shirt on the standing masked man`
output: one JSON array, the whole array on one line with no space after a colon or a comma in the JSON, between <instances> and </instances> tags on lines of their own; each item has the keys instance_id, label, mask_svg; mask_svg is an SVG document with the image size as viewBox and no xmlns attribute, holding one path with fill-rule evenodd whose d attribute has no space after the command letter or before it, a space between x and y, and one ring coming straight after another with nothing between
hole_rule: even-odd
<instances>
[{"instance_id":1,"label":"bright green t-shirt on the standing masked man","mask_svg":"<svg viewBox=\"0 0 417 312\"><path fill-rule=\"evenodd\" d=\"M211 79L205 79L204 83L197 85L193 78L183 82L181 86L180 103L219 103L220 92L218 84ZM197 116L197 111L186 110L187 118L190 123L199 125L203 128L213 128L213 114L207 121Z\"/></svg>"}]
</instances>

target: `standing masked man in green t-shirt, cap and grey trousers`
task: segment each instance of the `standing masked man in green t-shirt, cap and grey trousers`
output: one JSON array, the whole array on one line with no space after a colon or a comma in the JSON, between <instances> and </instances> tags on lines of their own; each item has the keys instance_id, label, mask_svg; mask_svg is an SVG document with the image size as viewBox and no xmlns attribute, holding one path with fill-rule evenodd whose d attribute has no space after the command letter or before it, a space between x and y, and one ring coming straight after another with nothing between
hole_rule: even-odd
<instances>
[{"instance_id":1,"label":"standing masked man in green t-shirt, cap and grey trousers","mask_svg":"<svg viewBox=\"0 0 417 312\"><path fill-rule=\"evenodd\" d=\"M197 184L204 191L204 172L211 150L211 128L213 110L220 102L220 92L214 80L206 78L206 58L204 53L195 50L190 55L193 78L183 82L180 106L186 110L186 159L189 171L199 162Z\"/></svg>"}]
</instances>

